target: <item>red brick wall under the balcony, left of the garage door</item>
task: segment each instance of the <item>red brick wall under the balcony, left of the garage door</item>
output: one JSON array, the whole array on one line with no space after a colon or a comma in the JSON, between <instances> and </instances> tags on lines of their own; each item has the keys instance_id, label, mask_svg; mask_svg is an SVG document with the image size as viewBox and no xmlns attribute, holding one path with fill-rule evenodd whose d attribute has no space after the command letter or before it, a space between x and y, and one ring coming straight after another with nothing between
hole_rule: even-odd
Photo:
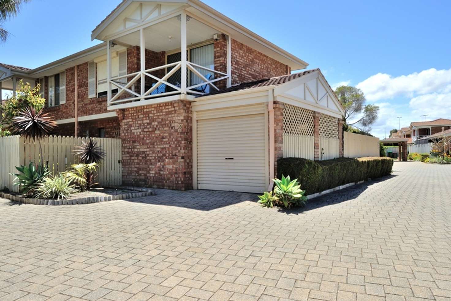
<instances>
[{"instance_id":1,"label":"red brick wall under the balcony, left of the garage door","mask_svg":"<svg viewBox=\"0 0 451 301\"><path fill-rule=\"evenodd\" d=\"M118 116L124 185L193 188L191 103L133 107Z\"/></svg>"}]
</instances>

